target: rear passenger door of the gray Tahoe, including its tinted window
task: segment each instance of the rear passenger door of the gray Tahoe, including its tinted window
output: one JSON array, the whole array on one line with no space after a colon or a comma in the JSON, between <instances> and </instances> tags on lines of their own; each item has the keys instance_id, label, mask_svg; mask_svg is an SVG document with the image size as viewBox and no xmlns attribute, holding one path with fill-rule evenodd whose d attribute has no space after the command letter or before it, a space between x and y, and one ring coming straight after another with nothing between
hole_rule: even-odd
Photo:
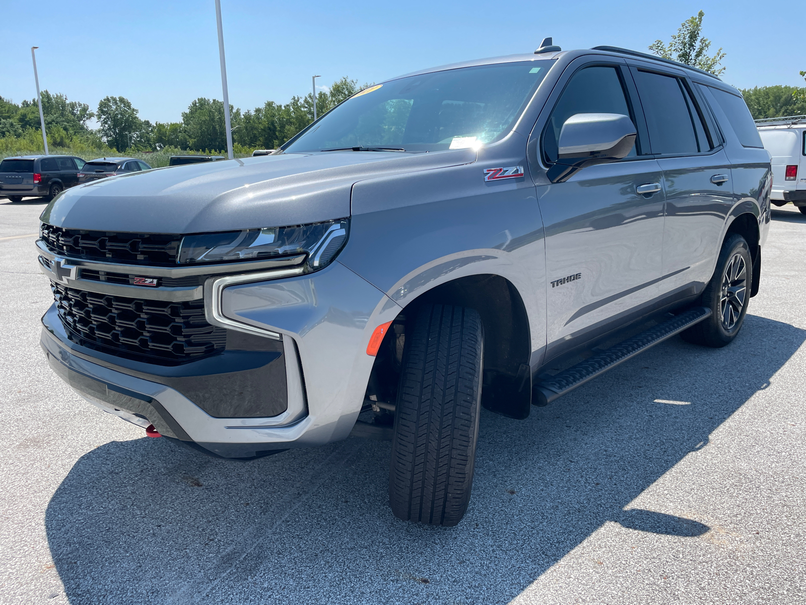
<instances>
[{"instance_id":1,"label":"rear passenger door of the gray Tahoe, including its tinted window","mask_svg":"<svg viewBox=\"0 0 806 605\"><path fill-rule=\"evenodd\" d=\"M631 67L652 153L663 169L663 294L685 298L711 279L733 207L730 161L682 72Z\"/></svg>"}]
</instances>

